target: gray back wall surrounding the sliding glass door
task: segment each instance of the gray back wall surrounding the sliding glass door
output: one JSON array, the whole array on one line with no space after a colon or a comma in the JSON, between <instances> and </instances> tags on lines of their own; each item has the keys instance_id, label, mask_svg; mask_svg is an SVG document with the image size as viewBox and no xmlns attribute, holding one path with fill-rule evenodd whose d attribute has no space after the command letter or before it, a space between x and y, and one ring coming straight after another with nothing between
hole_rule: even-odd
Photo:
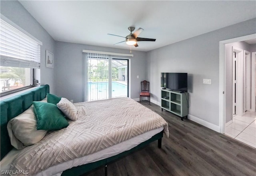
<instances>
[{"instance_id":1,"label":"gray back wall surrounding the sliding glass door","mask_svg":"<svg viewBox=\"0 0 256 176\"><path fill-rule=\"evenodd\" d=\"M56 95L74 100L74 102L84 101L84 54L82 50L130 54L130 50L56 42L54 65ZM146 52L132 50L131 54L134 54L134 57L126 57L130 58L130 98L138 98L140 81L146 79Z\"/></svg>"}]
</instances>

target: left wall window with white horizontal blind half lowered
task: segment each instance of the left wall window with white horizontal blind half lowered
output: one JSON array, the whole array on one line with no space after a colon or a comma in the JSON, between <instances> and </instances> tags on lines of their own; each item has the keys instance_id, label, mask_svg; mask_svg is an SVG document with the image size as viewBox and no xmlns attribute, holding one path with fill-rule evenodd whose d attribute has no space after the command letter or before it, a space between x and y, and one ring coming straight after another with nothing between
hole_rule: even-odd
<instances>
[{"instance_id":1,"label":"left wall window with white horizontal blind half lowered","mask_svg":"<svg viewBox=\"0 0 256 176\"><path fill-rule=\"evenodd\" d=\"M0 20L0 95L4 96L32 86L42 43L7 18Z\"/></svg>"}]
</instances>

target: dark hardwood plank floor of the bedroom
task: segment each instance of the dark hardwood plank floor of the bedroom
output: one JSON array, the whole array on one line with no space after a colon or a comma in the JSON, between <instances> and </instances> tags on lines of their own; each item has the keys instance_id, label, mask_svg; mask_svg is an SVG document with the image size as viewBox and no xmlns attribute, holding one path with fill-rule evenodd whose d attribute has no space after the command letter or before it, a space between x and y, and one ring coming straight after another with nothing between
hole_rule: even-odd
<instances>
[{"instance_id":1,"label":"dark hardwood plank floor of the bedroom","mask_svg":"<svg viewBox=\"0 0 256 176\"><path fill-rule=\"evenodd\" d=\"M108 164L108 176L256 176L256 149L160 106L142 104L169 124L169 138ZM217 117L216 117L217 118ZM104 167L83 176L104 176Z\"/></svg>"}]
</instances>

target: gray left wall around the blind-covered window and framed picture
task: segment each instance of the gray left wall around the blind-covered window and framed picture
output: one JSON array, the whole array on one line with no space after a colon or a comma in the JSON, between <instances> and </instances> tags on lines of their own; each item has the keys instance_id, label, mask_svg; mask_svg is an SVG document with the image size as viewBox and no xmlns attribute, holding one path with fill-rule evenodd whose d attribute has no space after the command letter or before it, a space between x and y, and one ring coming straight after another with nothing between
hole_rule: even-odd
<instances>
[{"instance_id":1,"label":"gray left wall around the blind-covered window and framed picture","mask_svg":"<svg viewBox=\"0 0 256 176\"><path fill-rule=\"evenodd\" d=\"M42 42L40 74L37 72L36 79L40 80L42 85L49 84L50 92L55 93L54 69L45 67L45 50L55 54L55 41L20 2L1 0L0 3L1 14Z\"/></svg>"}]
</instances>

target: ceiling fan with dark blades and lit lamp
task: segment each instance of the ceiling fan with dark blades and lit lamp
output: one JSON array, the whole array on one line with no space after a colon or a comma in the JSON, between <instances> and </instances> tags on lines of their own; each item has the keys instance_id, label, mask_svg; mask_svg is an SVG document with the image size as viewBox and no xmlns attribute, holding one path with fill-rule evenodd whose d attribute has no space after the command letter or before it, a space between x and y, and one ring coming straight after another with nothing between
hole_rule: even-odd
<instances>
[{"instance_id":1,"label":"ceiling fan with dark blades and lit lamp","mask_svg":"<svg viewBox=\"0 0 256 176\"><path fill-rule=\"evenodd\" d=\"M140 38L140 37L138 37L140 35L140 33L144 31L144 29L138 28L134 33L132 33L134 31L134 29L135 28L132 27L132 26L128 27L128 30L130 31L130 34L126 37L118 36L118 35L114 35L114 34L108 34L108 35L126 38L122 42L126 42L126 44L128 44L128 45L134 45L135 47L138 47L137 42L140 42L140 41L151 41L151 42L156 41L156 39L153 39L153 38ZM118 42L116 44L119 44L119 43L122 43L122 42Z\"/></svg>"}]
</instances>

